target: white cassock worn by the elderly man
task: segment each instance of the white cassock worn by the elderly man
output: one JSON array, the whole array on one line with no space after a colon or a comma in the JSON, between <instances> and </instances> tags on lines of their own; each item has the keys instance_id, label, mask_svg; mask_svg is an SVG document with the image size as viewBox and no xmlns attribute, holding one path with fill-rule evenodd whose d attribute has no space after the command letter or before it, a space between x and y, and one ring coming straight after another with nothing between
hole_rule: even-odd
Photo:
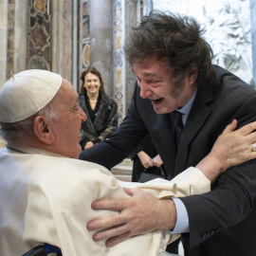
<instances>
[{"instance_id":1,"label":"white cassock worn by the elderly man","mask_svg":"<svg viewBox=\"0 0 256 256\"><path fill-rule=\"evenodd\" d=\"M64 256L155 256L177 235L158 229L105 247L105 241L93 241L95 231L88 231L86 224L117 212L92 210L91 203L128 198L122 187L140 188L158 198L210 191L210 181L195 168L172 181L120 182L95 163L22 148L32 153L24 154L15 149L0 151L1 256L19 256L42 243L61 247Z\"/></svg>"}]
</instances>

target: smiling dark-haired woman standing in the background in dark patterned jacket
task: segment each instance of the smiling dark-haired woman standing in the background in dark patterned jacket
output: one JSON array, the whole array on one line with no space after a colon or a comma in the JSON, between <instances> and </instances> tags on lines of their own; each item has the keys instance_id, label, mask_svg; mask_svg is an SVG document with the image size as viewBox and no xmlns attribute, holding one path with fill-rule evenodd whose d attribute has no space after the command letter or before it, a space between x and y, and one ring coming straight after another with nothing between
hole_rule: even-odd
<instances>
[{"instance_id":1,"label":"smiling dark-haired woman standing in the background in dark patterned jacket","mask_svg":"<svg viewBox=\"0 0 256 256\"><path fill-rule=\"evenodd\" d=\"M101 73L95 67L82 72L79 103L87 119L82 122L80 145L88 149L110 137L118 128L118 104L105 94Z\"/></svg>"}]
</instances>

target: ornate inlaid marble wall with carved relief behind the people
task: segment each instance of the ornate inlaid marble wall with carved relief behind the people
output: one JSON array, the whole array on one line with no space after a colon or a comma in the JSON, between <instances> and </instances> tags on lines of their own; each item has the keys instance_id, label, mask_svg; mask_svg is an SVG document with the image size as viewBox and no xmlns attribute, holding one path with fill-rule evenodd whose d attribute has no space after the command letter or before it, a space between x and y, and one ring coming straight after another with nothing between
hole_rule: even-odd
<instances>
[{"instance_id":1,"label":"ornate inlaid marble wall with carved relief behind the people","mask_svg":"<svg viewBox=\"0 0 256 256\"><path fill-rule=\"evenodd\" d=\"M152 9L152 2L155 9L189 14L206 24L206 38L214 50L214 62L252 83L252 70L255 73L256 68L252 67L255 52L251 48L256 46L256 31L255 26L250 28L250 15L253 14L255 20L256 0L250 0L254 4L252 9L249 0L232 1L232 5L230 0L216 0L213 4L211 0L108 1L108 8L101 9L111 16L112 31L102 46L95 44L93 51L100 54L96 59L102 59L102 66L107 61L111 65L111 68L102 69L102 75L106 81L112 81L108 82L111 84L107 84L107 91L118 102L120 121L126 115L136 81L122 47L130 27L140 21L143 11L147 14ZM96 2L106 4L103 0L93 3ZM91 11L96 13L96 19L92 19ZM98 8L94 6L91 10L90 0L1 0L0 87L10 77L10 71L44 68L61 74L79 91L82 70L93 59L90 22L94 27L104 25L97 15ZM255 31L254 43L251 42L251 31ZM104 46L109 47L108 55L101 56Z\"/></svg>"}]
</instances>

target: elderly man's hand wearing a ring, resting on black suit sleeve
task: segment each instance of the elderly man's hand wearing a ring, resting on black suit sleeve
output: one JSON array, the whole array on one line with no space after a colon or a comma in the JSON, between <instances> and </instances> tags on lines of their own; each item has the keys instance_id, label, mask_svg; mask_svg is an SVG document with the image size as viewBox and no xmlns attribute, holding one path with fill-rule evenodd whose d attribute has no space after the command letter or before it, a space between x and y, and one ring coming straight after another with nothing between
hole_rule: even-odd
<instances>
[{"instance_id":1,"label":"elderly man's hand wearing a ring, resting on black suit sleeve","mask_svg":"<svg viewBox=\"0 0 256 256\"><path fill-rule=\"evenodd\" d=\"M252 151L252 144L256 141L256 132L252 133L256 129L256 121L234 131L236 126L237 120L234 119L218 137L210 154L196 166L210 181L231 166L256 158L256 152Z\"/></svg>"}]
</instances>

